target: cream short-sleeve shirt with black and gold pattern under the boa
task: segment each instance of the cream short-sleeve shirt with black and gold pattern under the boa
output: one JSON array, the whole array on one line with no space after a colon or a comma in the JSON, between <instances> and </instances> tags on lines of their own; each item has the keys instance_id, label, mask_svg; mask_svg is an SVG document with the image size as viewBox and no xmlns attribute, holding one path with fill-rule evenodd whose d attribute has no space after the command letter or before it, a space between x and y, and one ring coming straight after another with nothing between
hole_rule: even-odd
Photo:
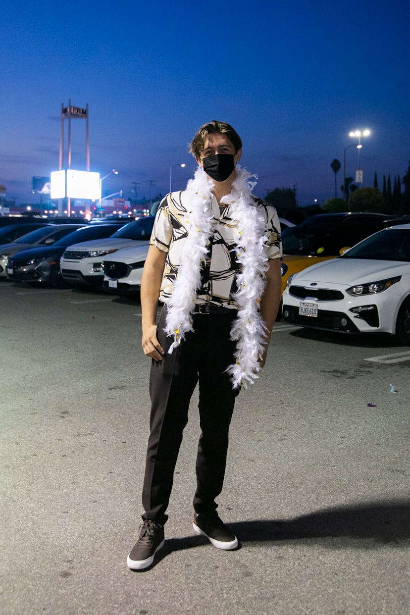
<instances>
[{"instance_id":1,"label":"cream short-sleeve shirt with black and gold pattern under the boa","mask_svg":"<svg viewBox=\"0 0 410 615\"><path fill-rule=\"evenodd\" d=\"M150 244L167 252L164 275L159 300L167 303L172 293L173 283L178 276L179 258L187 237L186 212L189 211L185 191L171 192L162 200L154 221ZM282 258L280 223L273 205L252 196L254 205L262 210L266 220L266 256L269 259ZM197 291L196 303L211 303L216 306L236 309L232 296L237 290L236 276L240 263L235 254L235 231L237 220L232 218L232 210L226 206L219 208L215 196L211 202L215 219L215 232L202 267L201 288Z\"/></svg>"}]
</instances>

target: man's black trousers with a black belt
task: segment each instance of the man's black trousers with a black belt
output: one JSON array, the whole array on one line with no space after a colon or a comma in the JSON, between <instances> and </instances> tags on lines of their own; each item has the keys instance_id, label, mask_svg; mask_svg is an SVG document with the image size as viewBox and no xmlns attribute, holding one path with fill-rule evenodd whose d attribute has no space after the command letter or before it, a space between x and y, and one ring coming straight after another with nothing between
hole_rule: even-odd
<instances>
[{"instance_id":1,"label":"man's black trousers with a black belt","mask_svg":"<svg viewBox=\"0 0 410 615\"><path fill-rule=\"evenodd\" d=\"M189 402L199 382L201 434L195 471L196 512L215 510L215 498L222 491L229 424L239 391L224 370L234 361L234 342L229 339L233 314L194 315L194 333L172 354L172 343L164 333L166 307L162 309L157 337L165 350L162 361L152 360L149 379L151 432L148 440L143 486L143 519L164 524L173 485L173 476L183 430L188 420Z\"/></svg>"}]
</instances>

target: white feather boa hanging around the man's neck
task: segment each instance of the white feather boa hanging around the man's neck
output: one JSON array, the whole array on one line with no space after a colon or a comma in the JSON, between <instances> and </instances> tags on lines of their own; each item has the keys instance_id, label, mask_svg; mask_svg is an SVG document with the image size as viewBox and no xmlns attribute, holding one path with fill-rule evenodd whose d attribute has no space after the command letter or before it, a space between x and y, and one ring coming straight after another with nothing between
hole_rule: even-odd
<instances>
[{"instance_id":1,"label":"white feather boa hanging around the man's neck","mask_svg":"<svg viewBox=\"0 0 410 615\"><path fill-rule=\"evenodd\" d=\"M231 217L237 220L235 252L242 271L237 274L237 292L233 299L238 305L238 317L232 323L231 339L236 342L235 363L227 368L232 386L237 389L258 378L259 357L263 352L264 332L259 305L265 288L268 268L264 250L266 220L261 210L251 199L251 190L256 178L237 165L237 177L232 183L231 194L221 202L229 206ZM172 352L183 341L187 331L193 331L192 312L195 307L197 290L200 288L200 269L207 255L209 240L215 228L211 212L214 183L200 167L186 188L191 210L186 213L187 239L181 250L178 276L167 302L165 332L174 341L168 352Z\"/></svg>"}]
</instances>

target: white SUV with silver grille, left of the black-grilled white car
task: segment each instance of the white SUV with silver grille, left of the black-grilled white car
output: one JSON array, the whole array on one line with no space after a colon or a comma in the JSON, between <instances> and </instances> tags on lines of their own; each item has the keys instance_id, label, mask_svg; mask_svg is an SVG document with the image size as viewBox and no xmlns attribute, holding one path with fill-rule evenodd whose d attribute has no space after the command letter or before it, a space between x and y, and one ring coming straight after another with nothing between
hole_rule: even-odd
<instances>
[{"instance_id":1,"label":"white SUV with silver grille, left of the black-grilled white car","mask_svg":"<svg viewBox=\"0 0 410 615\"><path fill-rule=\"evenodd\" d=\"M125 224L108 239L70 245L61 256L61 275L74 287L101 287L104 257L130 246L144 246L148 252L154 217L146 216Z\"/></svg>"}]
</instances>

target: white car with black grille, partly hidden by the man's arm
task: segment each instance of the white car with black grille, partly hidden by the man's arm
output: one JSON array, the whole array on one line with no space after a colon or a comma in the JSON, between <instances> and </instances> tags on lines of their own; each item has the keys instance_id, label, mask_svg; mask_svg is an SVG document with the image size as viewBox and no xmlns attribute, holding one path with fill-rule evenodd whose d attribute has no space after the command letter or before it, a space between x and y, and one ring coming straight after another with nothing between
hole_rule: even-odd
<instances>
[{"instance_id":1,"label":"white car with black grille, partly hidden by the man's arm","mask_svg":"<svg viewBox=\"0 0 410 615\"><path fill-rule=\"evenodd\" d=\"M103 288L120 296L138 295L149 245L122 248L103 262Z\"/></svg>"}]
</instances>

